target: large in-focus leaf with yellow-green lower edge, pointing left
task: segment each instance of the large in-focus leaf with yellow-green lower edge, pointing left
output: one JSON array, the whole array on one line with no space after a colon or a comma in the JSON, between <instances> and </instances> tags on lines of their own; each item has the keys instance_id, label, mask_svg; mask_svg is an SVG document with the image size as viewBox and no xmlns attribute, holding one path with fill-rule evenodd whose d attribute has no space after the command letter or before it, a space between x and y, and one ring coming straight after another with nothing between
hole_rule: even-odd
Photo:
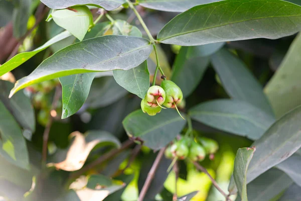
<instances>
[{"instance_id":1,"label":"large in-focus leaf with yellow-green lower edge, pointing left","mask_svg":"<svg viewBox=\"0 0 301 201\"><path fill-rule=\"evenodd\" d=\"M18 90L45 80L84 72L128 70L147 59L153 46L143 38L102 36L70 45L44 60L30 75L16 82ZM63 66L63 68L62 68Z\"/></svg>"}]
</instances>

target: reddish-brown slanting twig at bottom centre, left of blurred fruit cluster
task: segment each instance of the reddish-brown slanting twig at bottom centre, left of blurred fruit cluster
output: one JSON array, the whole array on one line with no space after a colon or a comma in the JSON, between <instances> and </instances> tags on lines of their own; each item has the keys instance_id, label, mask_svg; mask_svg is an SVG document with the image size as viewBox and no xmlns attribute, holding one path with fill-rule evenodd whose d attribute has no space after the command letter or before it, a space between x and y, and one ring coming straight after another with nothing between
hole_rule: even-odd
<instances>
[{"instance_id":1,"label":"reddish-brown slanting twig at bottom centre, left of blurred fruit cluster","mask_svg":"<svg viewBox=\"0 0 301 201\"><path fill-rule=\"evenodd\" d=\"M150 183L152 183L152 181L153 181L153 178L155 176L155 173L157 171L159 163L160 163L160 161L161 161L161 159L162 159L162 157L164 155L165 149L166 149L165 147L162 148L162 149L160 149L160 151L159 151L159 153L158 153L158 155L157 155L157 157L156 157L156 159L154 161L154 164L153 164L152 168L150 168L150 170L149 170L149 172L147 174L147 178L146 178L146 180L144 182L144 185L142 187L142 190L141 190L141 192L139 194L138 201L143 201L144 196L145 196L145 194L146 194L146 192L147 192L147 190L148 190L148 188L150 186Z\"/></svg>"}]
</instances>

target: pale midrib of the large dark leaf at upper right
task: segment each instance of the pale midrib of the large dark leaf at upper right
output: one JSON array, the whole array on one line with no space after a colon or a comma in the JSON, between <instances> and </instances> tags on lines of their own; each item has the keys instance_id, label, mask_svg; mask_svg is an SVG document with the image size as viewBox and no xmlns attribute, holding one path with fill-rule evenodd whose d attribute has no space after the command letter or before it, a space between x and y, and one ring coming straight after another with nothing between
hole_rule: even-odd
<instances>
[{"instance_id":1,"label":"pale midrib of the large dark leaf at upper right","mask_svg":"<svg viewBox=\"0 0 301 201\"><path fill-rule=\"evenodd\" d=\"M241 21L232 22L232 23L228 23L228 24L216 25L216 26L212 26L212 27L207 27L207 28L202 28L202 29L196 29L196 30L193 30L193 31L181 32L181 33L178 33L178 34L170 35L170 36L168 36L166 38L158 39L158 41L164 41L164 40L167 40L167 39L170 39L170 38L174 38L174 37L177 37L177 36L181 36L181 35L191 34L191 33L199 32L199 31L204 31L204 30L208 30L208 29L213 29L213 28L217 28L217 27L223 27L223 26L227 26L227 25L233 25L233 24L242 23L242 22L248 22L248 21L253 21L253 20L268 19L268 18L300 17L300 16L301 16L301 14L299 14L299 15L290 15L290 16L260 17L260 18L253 18L253 19L249 19L249 20L241 20Z\"/></svg>"}]
</instances>

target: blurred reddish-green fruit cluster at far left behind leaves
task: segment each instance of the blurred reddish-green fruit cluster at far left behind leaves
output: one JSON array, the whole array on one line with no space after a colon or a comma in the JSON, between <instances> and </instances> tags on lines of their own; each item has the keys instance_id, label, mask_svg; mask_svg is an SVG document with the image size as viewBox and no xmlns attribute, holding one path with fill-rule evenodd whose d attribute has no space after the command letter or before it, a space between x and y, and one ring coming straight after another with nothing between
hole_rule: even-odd
<instances>
[{"instance_id":1,"label":"blurred reddish-green fruit cluster at far left behind leaves","mask_svg":"<svg viewBox=\"0 0 301 201\"><path fill-rule=\"evenodd\" d=\"M50 118L51 105L54 88L60 84L58 79L47 80L38 84L31 85L26 88L32 94L33 105L35 109L39 110L37 114L37 121L42 126L46 126ZM58 102L55 115L61 113L61 101Z\"/></svg>"}]
</instances>

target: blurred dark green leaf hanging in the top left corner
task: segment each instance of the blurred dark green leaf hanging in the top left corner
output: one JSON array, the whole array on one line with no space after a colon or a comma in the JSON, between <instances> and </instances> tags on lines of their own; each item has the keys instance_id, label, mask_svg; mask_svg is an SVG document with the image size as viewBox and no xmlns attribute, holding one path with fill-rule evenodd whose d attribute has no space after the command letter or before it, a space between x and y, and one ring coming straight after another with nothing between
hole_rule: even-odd
<instances>
[{"instance_id":1,"label":"blurred dark green leaf hanging in the top left corner","mask_svg":"<svg viewBox=\"0 0 301 201\"><path fill-rule=\"evenodd\" d=\"M31 0L20 0L15 2L15 9L13 11L13 28L14 36L21 38L27 32L27 22L31 15L30 6Z\"/></svg>"}]
</instances>

